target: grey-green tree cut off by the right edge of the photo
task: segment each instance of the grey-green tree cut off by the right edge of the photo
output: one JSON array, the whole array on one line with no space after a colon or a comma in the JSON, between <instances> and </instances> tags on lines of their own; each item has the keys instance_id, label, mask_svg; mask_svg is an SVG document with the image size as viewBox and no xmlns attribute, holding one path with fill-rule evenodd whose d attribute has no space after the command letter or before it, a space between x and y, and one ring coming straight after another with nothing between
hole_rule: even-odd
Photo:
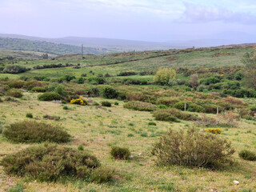
<instances>
[{"instance_id":1,"label":"grey-green tree cut off by the right edge of the photo","mask_svg":"<svg viewBox=\"0 0 256 192\"><path fill-rule=\"evenodd\" d=\"M248 88L256 89L256 50L254 53L246 53L242 58L242 62L245 64L244 84Z\"/></svg>"}]
</instances>

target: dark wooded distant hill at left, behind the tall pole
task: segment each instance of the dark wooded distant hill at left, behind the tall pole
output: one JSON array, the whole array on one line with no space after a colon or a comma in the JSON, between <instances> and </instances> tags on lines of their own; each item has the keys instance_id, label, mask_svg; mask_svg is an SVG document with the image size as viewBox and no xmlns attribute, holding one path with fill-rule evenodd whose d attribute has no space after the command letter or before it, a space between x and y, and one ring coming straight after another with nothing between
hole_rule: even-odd
<instances>
[{"instance_id":1,"label":"dark wooded distant hill at left, behind the tall pole","mask_svg":"<svg viewBox=\"0 0 256 192\"><path fill-rule=\"evenodd\" d=\"M81 54L80 46L72 46L54 42L27 40L22 38L0 38L0 49L5 50L26 50L47 54ZM85 54L102 54L107 50L84 47Z\"/></svg>"}]
</instances>

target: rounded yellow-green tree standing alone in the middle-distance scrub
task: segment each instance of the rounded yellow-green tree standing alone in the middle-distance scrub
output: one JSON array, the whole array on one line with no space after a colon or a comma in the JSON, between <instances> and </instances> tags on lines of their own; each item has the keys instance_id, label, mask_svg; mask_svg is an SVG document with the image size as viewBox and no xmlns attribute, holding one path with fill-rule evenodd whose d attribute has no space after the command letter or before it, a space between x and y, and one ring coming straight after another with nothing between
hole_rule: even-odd
<instances>
[{"instance_id":1,"label":"rounded yellow-green tree standing alone in the middle-distance scrub","mask_svg":"<svg viewBox=\"0 0 256 192\"><path fill-rule=\"evenodd\" d=\"M176 76L176 70L170 68L161 68L158 69L158 72L154 75L154 82L161 85L168 85L172 79L176 78Z\"/></svg>"}]
</instances>

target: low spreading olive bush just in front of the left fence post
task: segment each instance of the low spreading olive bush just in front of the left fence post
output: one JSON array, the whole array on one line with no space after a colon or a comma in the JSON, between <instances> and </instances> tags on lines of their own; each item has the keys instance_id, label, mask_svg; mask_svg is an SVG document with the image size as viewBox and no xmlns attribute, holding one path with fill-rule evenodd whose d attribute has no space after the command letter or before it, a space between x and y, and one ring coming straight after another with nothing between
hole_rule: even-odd
<instances>
[{"instance_id":1,"label":"low spreading olive bush just in front of the left fence post","mask_svg":"<svg viewBox=\"0 0 256 192\"><path fill-rule=\"evenodd\" d=\"M166 122L177 122L177 118L185 121L198 120L198 117L195 114L190 114L177 109L156 110L154 111L153 116L158 121Z\"/></svg>"}]
</instances>

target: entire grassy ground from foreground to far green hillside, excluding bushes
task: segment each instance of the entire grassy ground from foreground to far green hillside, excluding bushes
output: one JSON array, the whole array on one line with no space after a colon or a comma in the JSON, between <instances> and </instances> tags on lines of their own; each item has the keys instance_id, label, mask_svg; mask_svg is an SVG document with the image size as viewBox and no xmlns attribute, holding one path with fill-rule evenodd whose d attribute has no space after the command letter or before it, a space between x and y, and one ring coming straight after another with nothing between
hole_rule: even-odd
<instances>
[{"instance_id":1,"label":"entire grassy ground from foreground to far green hillside, excluding bushes","mask_svg":"<svg viewBox=\"0 0 256 192\"><path fill-rule=\"evenodd\" d=\"M23 185L26 192L43 192L43 191L111 191L111 192L133 192L133 191L177 191L177 192L253 192L256 189L256 162L249 162L238 157L238 152L241 150L256 151L256 122L253 120L246 120L240 118L236 120L237 126L222 128L223 133L219 135L220 138L226 138L232 142L232 146L236 150L234 153L234 164L226 166L220 170L210 170L206 168L191 168L185 166L158 166L156 158L151 151L155 142L158 142L161 135L165 134L167 130L187 130L191 126L195 126L192 121L181 122L161 122L156 121L153 114L147 111L128 110L124 108L126 99L123 101L115 99L106 99L103 97L89 98L83 94L90 87L102 87L106 85L92 85L89 78L97 78L98 74L110 74L113 77L106 78L107 82L113 79L137 79L153 82L154 75L132 75L117 76L120 72L132 71L142 72L149 70L157 70L160 67L184 67L190 68L212 68L224 66L242 66L241 58L247 52L253 49L250 47L238 47L235 49L202 49L189 50L182 52L180 50L166 50L166 51L144 51L126 54L110 54L110 55L85 55L81 59L80 55L66 55L55 58L54 60L38 60L27 59L20 61L4 62L3 65L20 65L32 68L33 66L42 66L50 64L73 64L80 68L74 69L74 66L29 70L22 74L0 74L3 85L0 83L0 89L5 92L7 80L14 81L14 78L45 76L51 78L48 82L37 82L33 86L52 86L56 84L56 79L62 78L65 75L74 75L77 79L82 74L86 74L86 82L77 84L74 82L63 82L62 86L66 91L72 93L78 90L80 95L83 95L88 102L88 106L72 105L70 103L62 104L60 102L42 102L38 101L38 93L30 91L27 83L22 82L24 86L20 89L22 91L22 98L14 98L16 101L7 101L6 95L1 96L0 102L0 126L8 126L13 122L19 122L26 118L26 114L33 114L33 120L38 122L48 122L53 125L62 126L72 139L63 146L69 146L78 149L78 146L83 146L85 150L94 154L102 165L108 166L115 170L116 178L114 182L102 183L84 182L82 180L70 179L66 182L38 182L31 181L27 178L18 178L7 175L2 166L0 166L0 191L8 191L15 185ZM1 53L1 52L0 52ZM0 54L1 55L1 54ZM2 54L7 56L7 54ZM10 54L11 55L11 54ZM10 56L8 55L8 56ZM137 61L133 61L137 59ZM125 62L126 61L126 62ZM13 63L14 62L14 63ZM97 66L99 64L109 64L105 66ZM94 65L94 66L89 66ZM232 70L232 67L230 68ZM221 70L220 70L221 71ZM232 72L232 71L231 71ZM232 74L230 72L230 74ZM217 72L216 72L217 74ZM204 74L202 74L203 76ZM206 75L209 75L206 72ZM212 75L212 74L211 74ZM218 74L219 76L221 74ZM226 76L229 73L225 74ZM200 77L204 79L206 77ZM222 77L223 83L227 81ZM207 76L208 77L208 76ZM178 80L189 81L190 76L178 74ZM88 81L87 81L88 80ZM17 81L17 80L15 80ZM33 82L34 80L32 80ZM235 79L229 82L238 82ZM242 80L240 79L242 84ZM197 98L200 101L208 101L211 98L203 98L209 96L210 91L205 93L196 93L190 89L186 92L182 90L182 86L159 86L151 83L149 85L127 86L124 84L114 84L110 82L111 86L118 91L130 91L128 94L136 95L145 94L148 97L145 100L148 102L151 95L154 94L157 98L174 98L174 99L192 99ZM42 85L41 85L42 84ZM32 84L31 84L32 85ZM178 88L177 92L172 88ZM236 88L240 89L240 88ZM166 91L166 92L165 92ZM1 92L0 92L1 93ZM176 95L177 94L177 95ZM202 95L201 95L202 94ZM157 95L157 96L156 96ZM202 98L200 98L200 95ZM152 98L154 98L152 96ZM204 100L206 99L206 100ZM208 100L207 100L208 99ZM219 97L219 99L223 99ZM212 97L212 100L214 98ZM218 99L216 99L218 100ZM102 101L109 101L112 103L111 107L94 106L93 102L101 103ZM186 100L185 100L186 101ZM190 101L190 100L187 100ZM118 102L119 105L114 105ZM214 101L214 103L217 101ZM256 106L255 98L243 98L243 102L250 106ZM156 104L156 103L154 103ZM243 104L243 107L249 107ZM157 105L157 104L156 104ZM67 106L68 110L64 110L63 106ZM44 115L58 116L59 121L43 118ZM201 115L199 113L194 113ZM218 118L216 114L206 114L209 117ZM150 126L149 122L155 122L156 126ZM197 130L202 130L205 127L195 126ZM25 149L28 146L37 144L14 143L7 140L0 134L0 161L6 154L13 154L19 150ZM131 158L129 160L114 160L110 155L112 146L128 147L131 151ZM239 185L235 186L233 181L238 180ZM12 190L10 190L12 191ZM20 190L19 190L20 191ZM13 191L14 192L14 191Z\"/></svg>"}]
</instances>

